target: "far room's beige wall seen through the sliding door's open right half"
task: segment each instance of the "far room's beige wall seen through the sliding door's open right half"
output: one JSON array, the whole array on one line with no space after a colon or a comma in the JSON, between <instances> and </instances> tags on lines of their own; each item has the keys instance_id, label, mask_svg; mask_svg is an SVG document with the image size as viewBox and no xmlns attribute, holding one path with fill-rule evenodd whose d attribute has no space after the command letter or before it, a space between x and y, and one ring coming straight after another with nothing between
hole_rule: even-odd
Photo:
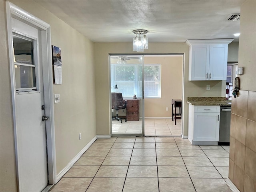
<instances>
[{"instance_id":1,"label":"far room's beige wall seen through the sliding door's open right half","mask_svg":"<svg viewBox=\"0 0 256 192\"><path fill-rule=\"evenodd\" d=\"M161 64L161 98L144 100L145 117L171 117L171 100L182 98L183 57L144 57L144 64Z\"/></svg>"}]
</instances>

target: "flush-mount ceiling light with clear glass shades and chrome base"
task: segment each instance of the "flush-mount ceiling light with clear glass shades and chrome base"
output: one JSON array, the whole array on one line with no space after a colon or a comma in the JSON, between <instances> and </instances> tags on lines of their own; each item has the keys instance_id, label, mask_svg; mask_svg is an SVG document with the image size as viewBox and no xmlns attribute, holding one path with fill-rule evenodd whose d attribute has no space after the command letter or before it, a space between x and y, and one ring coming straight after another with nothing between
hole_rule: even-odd
<instances>
[{"instance_id":1,"label":"flush-mount ceiling light with clear glass shades and chrome base","mask_svg":"<svg viewBox=\"0 0 256 192\"><path fill-rule=\"evenodd\" d=\"M136 29L132 32L136 34L136 37L133 38L133 50L136 52L143 52L144 49L148 49L148 37L146 36L148 31L144 29ZM141 37L141 35L143 37Z\"/></svg>"}]
</instances>

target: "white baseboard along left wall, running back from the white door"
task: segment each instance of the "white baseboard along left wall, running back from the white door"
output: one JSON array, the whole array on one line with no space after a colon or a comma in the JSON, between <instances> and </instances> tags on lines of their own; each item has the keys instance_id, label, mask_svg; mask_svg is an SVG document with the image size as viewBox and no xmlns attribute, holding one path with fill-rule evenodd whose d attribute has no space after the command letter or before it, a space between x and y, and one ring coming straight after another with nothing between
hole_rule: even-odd
<instances>
[{"instance_id":1,"label":"white baseboard along left wall, running back from the white door","mask_svg":"<svg viewBox=\"0 0 256 192\"><path fill-rule=\"evenodd\" d=\"M93 144L97 139L97 136L92 138L90 142L57 174L57 182L68 172L68 170L76 163L76 161L84 154L84 152Z\"/></svg>"}]
</instances>

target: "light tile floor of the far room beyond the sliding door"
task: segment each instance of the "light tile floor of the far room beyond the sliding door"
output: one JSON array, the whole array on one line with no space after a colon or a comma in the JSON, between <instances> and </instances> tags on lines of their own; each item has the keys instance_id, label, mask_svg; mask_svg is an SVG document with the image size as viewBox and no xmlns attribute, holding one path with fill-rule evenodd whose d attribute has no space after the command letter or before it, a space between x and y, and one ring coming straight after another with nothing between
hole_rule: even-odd
<instances>
[{"instance_id":1,"label":"light tile floor of the far room beyond the sliding door","mask_svg":"<svg viewBox=\"0 0 256 192\"><path fill-rule=\"evenodd\" d=\"M142 120L127 121L122 123L117 120L112 121L112 134L140 134L142 133ZM180 136L181 120L177 120L176 125L172 119L146 119L145 136Z\"/></svg>"}]
</instances>

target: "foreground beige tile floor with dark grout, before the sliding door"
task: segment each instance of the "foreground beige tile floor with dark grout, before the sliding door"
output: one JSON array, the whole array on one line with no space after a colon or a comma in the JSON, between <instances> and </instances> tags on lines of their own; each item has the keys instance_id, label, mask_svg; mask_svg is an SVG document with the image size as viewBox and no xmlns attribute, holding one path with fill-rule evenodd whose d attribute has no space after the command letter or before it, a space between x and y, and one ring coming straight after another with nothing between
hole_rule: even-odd
<instances>
[{"instance_id":1,"label":"foreground beige tile floor with dark grout, before the sliding door","mask_svg":"<svg viewBox=\"0 0 256 192\"><path fill-rule=\"evenodd\" d=\"M51 192L231 192L228 152L177 137L97 139Z\"/></svg>"}]
</instances>

